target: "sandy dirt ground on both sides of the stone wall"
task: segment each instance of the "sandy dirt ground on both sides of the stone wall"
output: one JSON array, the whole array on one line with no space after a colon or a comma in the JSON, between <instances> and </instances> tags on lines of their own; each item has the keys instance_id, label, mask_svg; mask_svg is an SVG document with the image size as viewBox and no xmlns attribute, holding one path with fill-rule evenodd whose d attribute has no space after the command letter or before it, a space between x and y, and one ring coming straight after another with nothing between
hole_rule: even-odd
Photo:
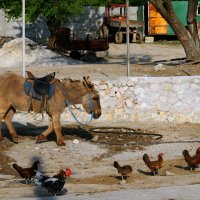
<instances>
[{"instance_id":1,"label":"sandy dirt ground on both sides of the stone wall","mask_svg":"<svg viewBox=\"0 0 200 200\"><path fill-rule=\"evenodd\" d=\"M130 76L198 76L200 66L184 63L185 53L179 44L131 44ZM71 64L51 66L48 63L27 67L36 75L56 71L58 78L81 78L89 75L92 79L109 79L127 76L126 46L111 44L107 56L99 54L95 64ZM157 66L157 64L161 64ZM15 71L21 68L2 68L0 73ZM0 143L0 197L12 199L22 197L44 197L46 190L37 187L33 182L25 184L16 171L13 163L23 167L29 166L34 160L40 160L40 170L48 175L57 173L60 168L70 167L72 176L65 184L66 192L80 195L117 191L132 188L157 188L161 186L192 185L200 183L200 170L189 171L183 159L182 151L188 149L194 154L199 146L199 124L159 124L159 123L113 123L101 124L93 122L91 126L117 127L114 133L88 132L88 127L80 128L77 124L65 124L63 134L66 146L58 147L52 134L48 142L35 144L35 136L46 126L37 122L35 128L20 125L18 144L9 140L7 129L3 129L5 140ZM124 133L122 127L133 129L133 133ZM91 127L89 127L91 128ZM125 130L126 131L126 130ZM141 135L135 135L135 133ZM162 138L148 137L145 134L161 134ZM95 139L96 138L96 139ZM78 139L78 143L75 143ZM164 167L160 174L152 176L145 166L142 156L148 153L156 159L158 153L164 153ZM121 165L129 164L133 173L126 183L113 167L117 160Z\"/></svg>"}]
</instances>

